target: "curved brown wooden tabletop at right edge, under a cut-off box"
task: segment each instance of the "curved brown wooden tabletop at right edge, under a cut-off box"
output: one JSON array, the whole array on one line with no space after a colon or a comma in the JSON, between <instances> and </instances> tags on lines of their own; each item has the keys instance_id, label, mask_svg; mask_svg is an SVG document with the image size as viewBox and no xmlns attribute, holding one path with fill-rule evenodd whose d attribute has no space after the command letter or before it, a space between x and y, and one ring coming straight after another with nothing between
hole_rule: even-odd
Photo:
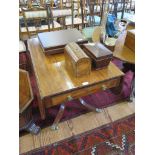
<instances>
[{"instance_id":1,"label":"curved brown wooden tabletop at right edge, under a cut-off box","mask_svg":"<svg viewBox=\"0 0 155 155\"><path fill-rule=\"evenodd\" d=\"M127 31L123 31L118 37L113 55L124 62L135 64L135 52L127 46L124 46L126 34Z\"/></svg>"}]
</instances>

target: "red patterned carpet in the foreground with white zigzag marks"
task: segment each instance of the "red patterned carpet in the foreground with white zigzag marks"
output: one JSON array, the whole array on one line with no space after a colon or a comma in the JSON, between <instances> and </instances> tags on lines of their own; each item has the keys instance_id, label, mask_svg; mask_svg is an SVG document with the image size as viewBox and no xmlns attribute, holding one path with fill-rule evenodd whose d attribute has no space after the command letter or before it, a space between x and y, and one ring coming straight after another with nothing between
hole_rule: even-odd
<instances>
[{"instance_id":1,"label":"red patterned carpet in the foreground with white zigzag marks","mask_svg":"<svg viewBox=\"0 0 155 155\"><path fill-rule=\"evenodd\" d=\"M134 130L132 115L23 155L134 155Z\"/></svg>"}]
</instances>

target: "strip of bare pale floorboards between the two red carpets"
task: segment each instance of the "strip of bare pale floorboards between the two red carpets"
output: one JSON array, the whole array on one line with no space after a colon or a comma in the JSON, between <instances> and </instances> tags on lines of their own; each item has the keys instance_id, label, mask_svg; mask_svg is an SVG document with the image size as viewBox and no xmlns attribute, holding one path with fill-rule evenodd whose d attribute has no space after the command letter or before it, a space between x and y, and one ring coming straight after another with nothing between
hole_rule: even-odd
<instances>
[{"instance_id":1,"label":"strip of bare pale floorboards between the two red carpets","mask_svg":"<svg viewBox=\"0 0 155 155\"><path fill-rule=\"evenodd\" d=\"M59 124L59 130L52 131L50 127L42 129L39 135L27 134L19 138L19 152L30 150L56 143L73 135L95 129L111 121L116 121L135 112L134 104L121 102L107 107L101 113L89 112L79 117L70 119ZM109 116L110 118L109 118Z\"/></svg>"}]
</instances>

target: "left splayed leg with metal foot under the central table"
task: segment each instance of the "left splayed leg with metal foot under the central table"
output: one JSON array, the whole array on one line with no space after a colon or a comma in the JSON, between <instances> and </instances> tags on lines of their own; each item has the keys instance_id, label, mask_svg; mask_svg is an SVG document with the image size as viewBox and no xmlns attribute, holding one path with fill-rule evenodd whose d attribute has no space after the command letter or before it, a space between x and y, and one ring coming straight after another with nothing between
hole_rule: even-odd
<instances>
[{"instance_id":1,"label":"left splayed leg with metal foot under the central table","mask_svg":"<svg viewBox=\"0 0 155 155\"><path fill-rule=\"evenodd\" d=\"M51 126L51 130L58 130L59 129L58 124L59 124L59 122L60 122L60 120L64 114L64 111L65 111L65 104L61 104L59 112L58 112L58 114L54 120L54 123Z\"/></svg>"}]
</instances>

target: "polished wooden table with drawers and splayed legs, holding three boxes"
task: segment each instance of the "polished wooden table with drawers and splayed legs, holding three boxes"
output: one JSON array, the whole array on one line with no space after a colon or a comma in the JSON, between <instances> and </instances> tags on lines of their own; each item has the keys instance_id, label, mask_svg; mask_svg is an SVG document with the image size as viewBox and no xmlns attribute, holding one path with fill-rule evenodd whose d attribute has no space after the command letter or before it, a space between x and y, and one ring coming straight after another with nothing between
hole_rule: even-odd
<instances>
[{"instance_id":1,"label":"polished wooden table with drawers and splayed legs, holding three boxes","mask_svg":"<svg viewBox=\"0 0 155 155\"><path fill-rule=\"evenodd\" d=\"M65 109L65 103L80 98L81 104L94 110L81 99L82 96L97 91L117 87L124 75L113 63L105 69L91 71L89 75L75 77L65 68L64 53L45 55L38 38L28 40L28 49L39 90L39 109L41 118L45 119L45 108L61 104L54 129ZM99 111L99 109L95 109Z\"/></svg>"}]
</instances>

